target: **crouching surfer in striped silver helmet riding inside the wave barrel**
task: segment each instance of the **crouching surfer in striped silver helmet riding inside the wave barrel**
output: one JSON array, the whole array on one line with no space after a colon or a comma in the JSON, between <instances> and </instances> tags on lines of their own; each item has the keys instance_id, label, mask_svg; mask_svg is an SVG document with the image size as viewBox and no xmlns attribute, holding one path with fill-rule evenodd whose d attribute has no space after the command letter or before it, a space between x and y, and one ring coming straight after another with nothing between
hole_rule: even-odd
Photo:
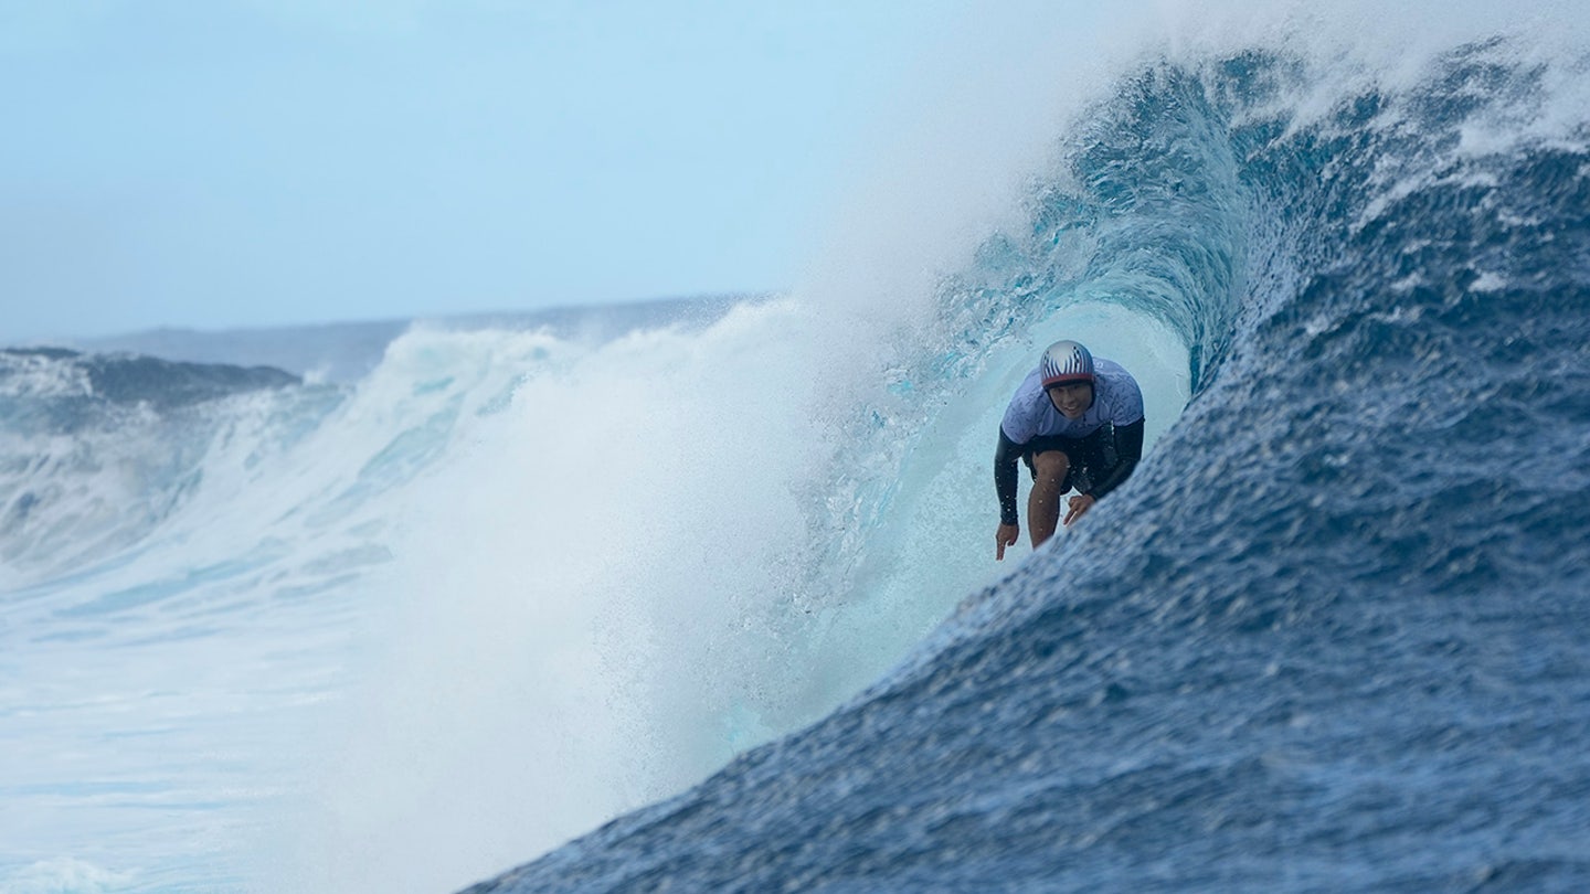
<instances>
[{"instance_id":1,"label":"crouching surfer in striped silver helmet riding inside the wave barrel","mask_svg":"<svg viewBox=\"0 0 1590 894\"><path fill-rule=\"evenodd\" d=\"M1016 460L1032 471L1027 496L1027 533L1032 547L1054 536L1061 522L1081 519L1105 493L1121 485L1143 457L1143 391L1119 363L1094 360L1076 342L1054 342L1043 361L1016 388L999 426L994 453L994 490L999 492L999 533L1005 547L1021 536L1016 515Z\"/></svg>"}]
</instances>

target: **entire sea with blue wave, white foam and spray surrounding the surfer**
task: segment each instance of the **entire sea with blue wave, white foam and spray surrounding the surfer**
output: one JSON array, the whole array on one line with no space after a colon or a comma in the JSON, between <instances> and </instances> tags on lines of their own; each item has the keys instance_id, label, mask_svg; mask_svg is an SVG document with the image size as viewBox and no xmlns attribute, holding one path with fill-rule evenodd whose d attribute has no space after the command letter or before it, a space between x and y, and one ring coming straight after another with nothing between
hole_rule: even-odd
<instances>
[{"instance_id":1,"label":"entire sea with blue wave, white foam and spray surrounding the surfer","mask_svg":"<svg viewBox=\"0 0 1590 894\"><path fill-rule=\"evenodd\" d=\"M790 294L0 353L0 889L1585 889L1584 13L1156 10Z\"/></svg>"}]
</instances>

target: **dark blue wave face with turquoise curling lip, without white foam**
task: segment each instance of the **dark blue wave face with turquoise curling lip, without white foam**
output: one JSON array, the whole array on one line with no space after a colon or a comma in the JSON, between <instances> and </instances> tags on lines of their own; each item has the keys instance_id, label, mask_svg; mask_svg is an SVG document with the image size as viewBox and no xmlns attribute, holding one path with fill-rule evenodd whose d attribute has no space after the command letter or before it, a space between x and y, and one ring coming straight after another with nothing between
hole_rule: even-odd
<instances>
[{"instance_id":1,"label":"dark blue wave face with turquoise curling lip, without white foam","mask_svg":"<svg viewBox=\"0 0 1590 894\"><path fill-rule=\"evenodd\" d=\"M1460 151L1550 99L1503 43L1309 122L1301 72L1140 72L946 296L968 342L1078 294L1186 337L1126 488L844 709L472 891L1590 889L1587 134Z\"/></svg>"}]
</instances>

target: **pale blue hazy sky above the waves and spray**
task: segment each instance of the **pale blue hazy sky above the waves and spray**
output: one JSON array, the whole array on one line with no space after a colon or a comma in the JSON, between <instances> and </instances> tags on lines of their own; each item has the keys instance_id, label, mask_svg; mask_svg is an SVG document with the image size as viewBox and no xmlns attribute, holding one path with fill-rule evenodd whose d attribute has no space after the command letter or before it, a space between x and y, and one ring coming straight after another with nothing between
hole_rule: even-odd
<instances>
[{"instance_id":1,"label":"pale blue hazy sky above the waves and spray","mask_svg":"<svg viewBox=\"0 0 1590 894\"><path fill-rule=\"evenodd\" d=\"M779 290L964 0L0 0L0 344Z\"/></svg>"}]
</instances>

